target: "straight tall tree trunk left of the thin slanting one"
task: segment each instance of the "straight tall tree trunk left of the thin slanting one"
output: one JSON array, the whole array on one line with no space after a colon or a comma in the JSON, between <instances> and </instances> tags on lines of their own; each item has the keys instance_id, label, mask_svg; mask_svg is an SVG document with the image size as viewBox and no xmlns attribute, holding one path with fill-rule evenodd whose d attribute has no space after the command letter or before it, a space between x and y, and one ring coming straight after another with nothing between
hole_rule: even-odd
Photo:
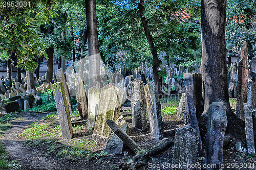
<instances>
[{"instance_id":1,"label":"straight tall tree trunk left of the thin slanting one","mask_svg":"<svg viewBox=\"0 0 256 170\"><path fill-rule=\"evenodd\" d=\"M96 17L96 0L86 0L86 24L88 31L89 88L100 81L100 54Z\"/></svg>"}]
</instances>

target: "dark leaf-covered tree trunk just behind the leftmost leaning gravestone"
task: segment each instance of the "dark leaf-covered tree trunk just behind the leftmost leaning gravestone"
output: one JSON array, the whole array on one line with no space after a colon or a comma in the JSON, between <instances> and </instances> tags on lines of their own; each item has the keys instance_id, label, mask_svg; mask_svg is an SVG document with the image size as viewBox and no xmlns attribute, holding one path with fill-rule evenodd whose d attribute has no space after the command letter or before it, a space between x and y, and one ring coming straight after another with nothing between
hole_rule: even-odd
<instances>
[{"instance_id":1,"label":"dark leaf-covered tree trunk just behind the leftmost leaning gravestone","mask_svg":"<svg viewBox=\"0 0 256 170\"><path fill-rule=\"evenodd\" d=\"M52 34L53 32L53 26L48 27L48 34ZM47 62L47 70L46 70L46 83L52 83L52 74L53 74L53 57L54 57L54 48L53 45L51 45L47 49L48 54L48 62Z\"/></svg>"}]
</instances>

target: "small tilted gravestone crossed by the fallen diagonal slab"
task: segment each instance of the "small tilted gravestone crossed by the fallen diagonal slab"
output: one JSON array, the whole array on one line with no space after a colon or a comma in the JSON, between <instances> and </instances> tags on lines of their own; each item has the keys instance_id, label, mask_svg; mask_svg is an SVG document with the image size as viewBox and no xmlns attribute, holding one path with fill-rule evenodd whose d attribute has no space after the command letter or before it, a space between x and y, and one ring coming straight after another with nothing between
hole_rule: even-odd
<instances>
[{"instance_id":1,"label":"small tilted gravestone crossed by the fallen diagonal slab","mask_svg":"<svg viewBox=\"0 0 256 170\"><path fill-rule=\"evenodd\" d=\"M116 120L116 125L121 128L121 130L127 134L129 131L129 127L122 115L119 116L119 118ZM106 143L106 149L105 151L108 152L108 154L122 154L123 150L123 141L113 132L111 131L109 135L108 142Z\"/></svg>"}]
</instances>

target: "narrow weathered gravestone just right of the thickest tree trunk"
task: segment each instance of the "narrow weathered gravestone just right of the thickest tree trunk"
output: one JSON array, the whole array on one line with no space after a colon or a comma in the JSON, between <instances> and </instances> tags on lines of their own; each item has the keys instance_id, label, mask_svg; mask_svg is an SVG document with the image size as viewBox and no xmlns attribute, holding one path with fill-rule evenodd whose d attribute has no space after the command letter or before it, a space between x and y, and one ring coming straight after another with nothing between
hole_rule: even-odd
<instances>
[{"instance_id":1,"label":"narrow weathered gravestone just right of the thickest tree trunk","mask_svg":"<svg viewBox=\"0 0 256 170\"><path fill-rule=\"evenodd\" d=\"M234 84L236 83L236 77L237 77L237 63L233 62L231 63L229 70L228 70L228 95L229 98L234 97Z\"/></svg>"}]
</instances>

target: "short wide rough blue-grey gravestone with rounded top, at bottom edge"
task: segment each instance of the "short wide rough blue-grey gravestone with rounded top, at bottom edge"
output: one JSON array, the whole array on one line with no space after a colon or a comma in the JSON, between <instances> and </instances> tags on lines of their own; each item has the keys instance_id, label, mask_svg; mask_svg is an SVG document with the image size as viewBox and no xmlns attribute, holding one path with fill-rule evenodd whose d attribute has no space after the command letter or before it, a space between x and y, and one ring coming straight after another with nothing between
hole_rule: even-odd
<instances>
[{"instance_id":1,"label":"short wide rough blue-grey gravestone with rounded top, at bottom edge","mask_svg":"<svg viewBox=\"0 0 256 170\"><path fill-rule=\"evenodd\" d=\"M194 128L187 125L176 130L172 164L179 165L187 163L195 165L197 163L199 136L199 133ZM184 168L195 169L189 167Z\"/></svg>"}]
</instances>

